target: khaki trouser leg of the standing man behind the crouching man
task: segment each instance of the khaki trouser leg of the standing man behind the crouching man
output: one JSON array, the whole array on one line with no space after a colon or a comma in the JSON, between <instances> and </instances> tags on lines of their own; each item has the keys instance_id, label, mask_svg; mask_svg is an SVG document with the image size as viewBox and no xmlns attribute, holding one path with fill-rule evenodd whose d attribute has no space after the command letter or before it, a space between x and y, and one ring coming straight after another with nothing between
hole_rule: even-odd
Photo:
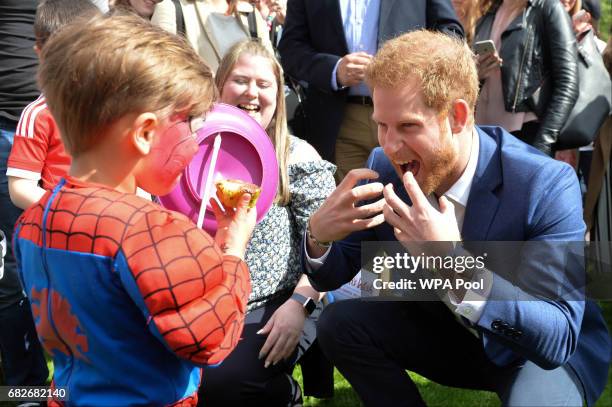
<instances>
[{"instance_id":1,"label":"khaki trouser leg of the standing man behind the crouching man","mask_svg":"<svg viewBox=\"0 0 612 407\"><path fill-rule=\"evenodd\" d=\"M378 145L376 125L371 106L347 103L338 138L336 139L336 182L347 172L363 168L370 152Z\"/></svg>"}]
</instances>

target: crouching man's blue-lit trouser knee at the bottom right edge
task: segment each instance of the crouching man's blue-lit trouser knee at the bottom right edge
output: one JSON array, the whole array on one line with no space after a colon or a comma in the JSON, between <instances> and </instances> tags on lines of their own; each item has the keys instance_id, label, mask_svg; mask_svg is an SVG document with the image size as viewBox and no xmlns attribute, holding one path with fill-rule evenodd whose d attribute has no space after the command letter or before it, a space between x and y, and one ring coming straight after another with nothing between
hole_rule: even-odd
<instances>
[{"instance_id":1,"label":"crouching man's blue-lit trouser knee at the bottom right edge","mask_svg":"<svg viewBox=\"0 0 612 407\"><path fill-rule=\"evenodd\" d=\"M569 367L544 370L533 362L517 369L500 394L507 407L582 407L582 385Z\"/></svg>"}]
</instances>

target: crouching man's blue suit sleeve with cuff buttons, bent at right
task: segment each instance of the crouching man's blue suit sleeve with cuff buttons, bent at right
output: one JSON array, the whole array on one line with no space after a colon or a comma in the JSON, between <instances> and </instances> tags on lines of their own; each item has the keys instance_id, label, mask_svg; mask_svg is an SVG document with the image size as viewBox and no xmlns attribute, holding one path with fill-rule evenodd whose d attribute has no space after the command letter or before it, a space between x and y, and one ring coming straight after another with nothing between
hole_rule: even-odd
<instances>
[{"instance_id":1,"label":"crouching man's blue suit sleeve with cuff buttons, bent at right","mask_svg":"<svg viewBox=\"0 0 612 407\"><path fill-rule=\"evenodd\" d=\"M532 182L534 205L526 242L532 249L522 253L514 281L494 275L478 325L486 337L544 369L554 369L565 364L578 345L585 270L582 253L573 255L567 248L582 248L585 228L578 180L569 166L546 165Z\"/></svg>"}]
</instances>

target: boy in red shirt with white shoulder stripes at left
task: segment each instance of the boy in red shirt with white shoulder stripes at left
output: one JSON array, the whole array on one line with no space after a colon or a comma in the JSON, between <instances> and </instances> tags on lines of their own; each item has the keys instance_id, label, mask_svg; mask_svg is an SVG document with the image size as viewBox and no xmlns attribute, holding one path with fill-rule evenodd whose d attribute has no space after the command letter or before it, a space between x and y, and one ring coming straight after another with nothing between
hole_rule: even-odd
<instances>
[{"instance_id":1,"label":"boy in red shirt with white shoulder stripes at left","mask_svg":"<svg viewBox=\"0 0 612 407\"><path fill-rule=\"evenodd\" d=\"M76 17L97 13L89 0L43 0L36 8L34 21L36 54L40 57L49 37ZM70 157L41 95L23 110L17 125L6 171L11 200L26 209L53 188L69 167Z\"/></svg>"}]
</instances>

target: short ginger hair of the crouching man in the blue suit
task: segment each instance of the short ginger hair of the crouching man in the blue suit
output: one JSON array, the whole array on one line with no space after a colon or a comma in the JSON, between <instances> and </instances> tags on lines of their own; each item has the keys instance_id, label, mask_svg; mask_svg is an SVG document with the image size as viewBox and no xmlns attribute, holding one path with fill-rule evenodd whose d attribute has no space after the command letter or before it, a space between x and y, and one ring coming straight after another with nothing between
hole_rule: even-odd
<instances>
[{"instance_id":1,"label":"short ginger hair of the crouching man in the blue suit","mask_svg":"<svg viewBox=\"0 0 612 407\"><path fill-rule=\"evenodd\" d=\"M478 97L474 54L464 41L417 30L387 41L366 71L370 88L393 88L418 80L425 104L445 116L456 99L472 113Z\"/></svg>"}]
</instances>

